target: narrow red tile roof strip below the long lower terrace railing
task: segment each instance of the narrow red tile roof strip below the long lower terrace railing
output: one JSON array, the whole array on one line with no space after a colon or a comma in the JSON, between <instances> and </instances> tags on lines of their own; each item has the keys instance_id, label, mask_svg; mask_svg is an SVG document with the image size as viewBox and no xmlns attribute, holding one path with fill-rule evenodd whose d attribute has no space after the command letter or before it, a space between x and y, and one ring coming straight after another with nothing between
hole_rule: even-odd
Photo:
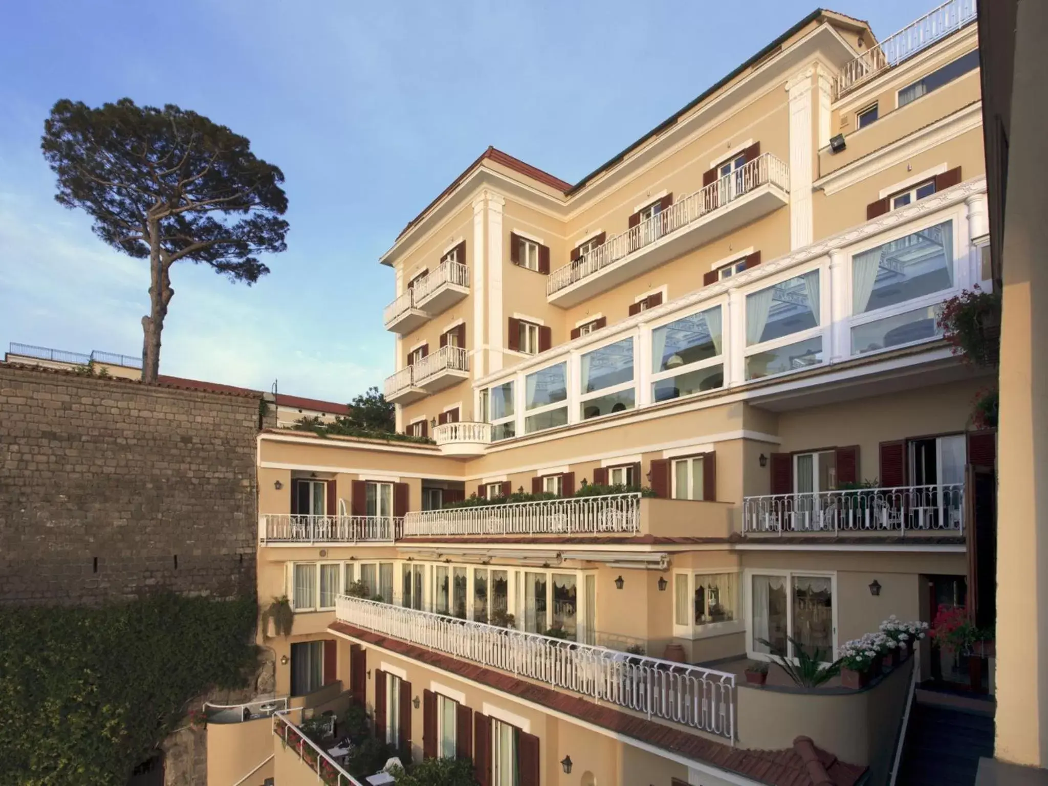
<instances>
[{"instance_id":1,"label":"narrow red tile roof strip below the long lower terrace railing","mask_svg":"<svg viewBox=\"0 0 1048 786\"><path fill-rule=\"evenodd\" d=\"M328 626L328 630L352 636L463 679L480 682L510 696L548 706L569 717L603 726L650 745L657 745L695 761L737 772L769 786L855 786L867 769L839 761L832 754L815 747L807 738L798 738L792 748L784 750L738 748L691 734L683 728L638 718L578 696L518 679L494 669L458 660L347 623L333 623ZM803 743L804 740L807 740L807 743ZM800 749L799 742L802 742ZM815 757L814 762L811 759L812 755ZM813 780L813 776L821 780Z\"/></svg>"}]
</instances>

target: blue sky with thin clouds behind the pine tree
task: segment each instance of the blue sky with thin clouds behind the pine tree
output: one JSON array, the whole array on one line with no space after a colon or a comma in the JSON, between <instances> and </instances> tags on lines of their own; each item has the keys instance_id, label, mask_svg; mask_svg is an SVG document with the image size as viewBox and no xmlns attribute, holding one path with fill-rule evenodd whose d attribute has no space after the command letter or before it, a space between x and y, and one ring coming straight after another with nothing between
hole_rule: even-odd
<instances>
[{"instance_id":1,"label":"blue sky with thin clouds behind the pine tree","mask_svg":"<svg viewBox=\"0 0 1048 786\"><path fill-rule=\"evenodd\" d=\"M840 0L888 35L933 2ZM571 182L813 9L796 0L0 0L0 346L138 354L147 264L53 201L68 97L177 104L284 171L253 287L176 266L160 371L348 401L393 371L379 255L488 145Z\"/></svg>"}]
</instances>

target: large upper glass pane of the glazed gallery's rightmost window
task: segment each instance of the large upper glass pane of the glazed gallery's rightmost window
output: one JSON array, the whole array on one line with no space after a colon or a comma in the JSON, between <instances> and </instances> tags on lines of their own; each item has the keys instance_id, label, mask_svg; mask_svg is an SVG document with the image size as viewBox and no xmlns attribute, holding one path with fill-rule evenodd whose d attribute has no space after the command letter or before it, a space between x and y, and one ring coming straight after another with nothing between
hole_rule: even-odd
<instances>
[{"instance_id":1,"label":"large upper glass pane of the glazed gallery's rightmost window","mask_svg":"<svg viewBox=\"0 0 1048 786\"><path fill-rule=\"evenodd\" d=\"M852 312L866 313L954 284L954 223L878 245L852 257Z\"/></svg>"}]
</instances>

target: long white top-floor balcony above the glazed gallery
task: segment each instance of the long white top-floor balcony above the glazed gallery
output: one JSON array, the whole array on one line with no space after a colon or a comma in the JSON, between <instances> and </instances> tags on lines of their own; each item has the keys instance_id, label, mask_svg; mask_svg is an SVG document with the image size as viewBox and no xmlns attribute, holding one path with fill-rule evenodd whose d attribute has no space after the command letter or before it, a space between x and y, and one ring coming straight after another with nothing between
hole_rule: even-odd
<instances>
[{"instance_id":1,"label":"long white top-floor balcony above the glazed gallery","mask_svg":"<svg viewBox=\"0 0 1048 786\"><path fill-rule=\"evenodd\" d=\"M567 308L789 202L789 167L764 153L553 270L546 299Z\"/></svg>"}]
</instances>

